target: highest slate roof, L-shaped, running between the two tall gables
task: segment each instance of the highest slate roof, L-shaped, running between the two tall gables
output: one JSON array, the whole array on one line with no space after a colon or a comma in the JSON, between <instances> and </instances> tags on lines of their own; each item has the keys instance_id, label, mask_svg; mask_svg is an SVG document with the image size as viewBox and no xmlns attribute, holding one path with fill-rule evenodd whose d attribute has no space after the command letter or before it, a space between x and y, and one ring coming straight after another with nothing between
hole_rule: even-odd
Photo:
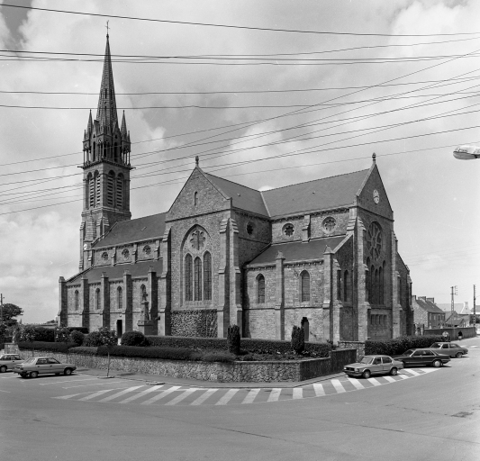
<instances>
[{"instance_id":1,"label":"highest slate roof, L-shaped, running between the two tall gables","mask_svg":"<svg viewBox=\"0 0 480 461\"><path fill-rule=\"evenodd\" d=\"M207 173L204 175L223 194L231 197L234 207L275 218L297 212L349 206L354 202L369 171L370 169L364 169L345 175L314 179L306 183L285 185L285 187L263 192L222 177Z\"/></svg>"}]
</instances>

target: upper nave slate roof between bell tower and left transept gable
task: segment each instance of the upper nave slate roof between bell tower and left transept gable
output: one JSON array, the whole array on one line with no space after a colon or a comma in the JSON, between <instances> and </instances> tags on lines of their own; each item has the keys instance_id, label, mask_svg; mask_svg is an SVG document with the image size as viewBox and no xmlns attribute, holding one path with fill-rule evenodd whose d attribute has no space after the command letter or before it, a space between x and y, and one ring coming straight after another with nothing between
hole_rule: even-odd
<instances>
[{"instance_id":1,"label":"upper nave slate roof between bell tower and left transept gable","mask_svg":"<svg viewBox=\"0 0 480 461\"><path fill-rule=\"evenodd\" d=\"M165 232L165 214L161 212L136 220L117 222L102 240L95 243L94 248L161 238Z\"/></svg>"}]
</instances>

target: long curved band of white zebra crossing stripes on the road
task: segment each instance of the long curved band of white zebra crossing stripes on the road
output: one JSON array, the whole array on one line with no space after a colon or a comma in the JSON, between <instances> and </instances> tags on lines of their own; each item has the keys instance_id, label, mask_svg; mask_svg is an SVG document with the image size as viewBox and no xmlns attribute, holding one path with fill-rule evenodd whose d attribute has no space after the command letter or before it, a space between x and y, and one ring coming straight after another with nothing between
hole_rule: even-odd
<instances>
[{"instance_id":1,"label":"long curved band of white zebra crossing stripes on the road","mask_svg":"<svg viewBox=\"0 0 480 461\"><path fill-rule=\"evenodd\" d=\"M73 393L52 397L59 400L75 400L77 402L113 402L127 404L131 402L141 405L232 405L266 402L284 402L324 397L339 393L365 390L384 384L392 384L404 379L425 375L439 368L416 368L402 370L395 376L377 376L368 379L356 379L347 376L330 379L322 383L305 384L294 388L201 388L172 384L147 384L125 387L123 389L102 389L85 393ZM161 402L160 402L161 401Z\"/></svg>"}]
</instances>

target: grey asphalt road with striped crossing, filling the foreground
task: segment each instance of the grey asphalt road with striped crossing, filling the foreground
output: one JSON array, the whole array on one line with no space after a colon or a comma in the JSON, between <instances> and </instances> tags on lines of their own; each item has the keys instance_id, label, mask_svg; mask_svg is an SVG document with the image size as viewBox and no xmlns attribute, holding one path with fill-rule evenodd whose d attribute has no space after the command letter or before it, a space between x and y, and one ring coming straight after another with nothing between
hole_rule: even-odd
<instances>
[{"instance_id":1,"label":"grey asphalt road with striped crossing, filling the foreground","mask_svg":"<svg viewBox=\"0 0 480 461\"><path fill-rule=\"evenodd\" d=\"M480 459L480 338L440 369L294 389L0 375L0 459Z\"/></svg>"}]
</instances>

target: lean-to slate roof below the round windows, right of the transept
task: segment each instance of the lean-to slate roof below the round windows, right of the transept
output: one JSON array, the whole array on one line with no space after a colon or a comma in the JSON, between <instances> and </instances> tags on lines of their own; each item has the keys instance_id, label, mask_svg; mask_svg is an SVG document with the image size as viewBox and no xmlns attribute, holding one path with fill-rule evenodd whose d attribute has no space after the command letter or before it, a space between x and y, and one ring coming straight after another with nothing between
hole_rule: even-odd
<instances>
[{"instance_id":1,"label":"lean-to slate roof below the round windows, right of the transept","mask_svg":"<svg viewBox=\"0 0 480 461\"><path fill-rule=\"evenodd\" d=\"M278 253L278 251L281 251L284 254L285 262L305 259L320 259L323 258L323 253L327 245L331 249L335 249L343 239L345 239L345 235L328 237L326 239L310 240L309 242L292 241L287 243L276 243L274 245L270 245L249 264L274 263L276 253Z\"/></svg>"}]
</instances>

